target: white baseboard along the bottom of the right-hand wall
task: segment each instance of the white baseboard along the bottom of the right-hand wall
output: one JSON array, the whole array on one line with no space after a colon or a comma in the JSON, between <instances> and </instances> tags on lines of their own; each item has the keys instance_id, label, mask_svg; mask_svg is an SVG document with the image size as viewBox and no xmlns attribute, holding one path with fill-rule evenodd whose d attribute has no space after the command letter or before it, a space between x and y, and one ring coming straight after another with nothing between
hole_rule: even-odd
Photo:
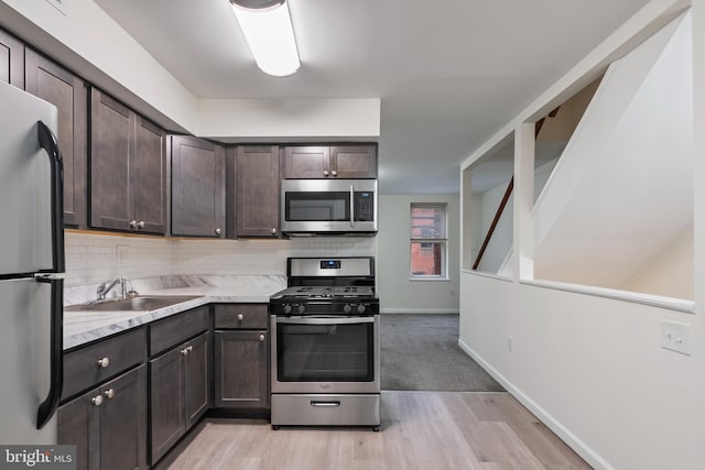
<instances>
[{"instance_id":1,"label":"white baseboard along the bottom of the right-hand wall","mask_svg":"<svg viewBox=\"0 0 705 470\"><path fill-rule=\"evenodd\" d=\"M505 375L499 373L487 361L485 361L479 354L477 354L463 340L458 339L458 346L470 358L473 358L478 364L482 367L497 382L499 382L507 391L517 398L522 405L524 405L531 413L533 413L541 422L546 425L556 436L558 436L570 448L581 456L587 463L596 470L615 470L604 458L601 458L595 450L593 450L587 444L575 436L568 428L566 428L561 422L554 418L550 413L543 409L536 402L534 402L529 395L527 395L521 389L511 383Z\"/></svg>"}]
</instances>

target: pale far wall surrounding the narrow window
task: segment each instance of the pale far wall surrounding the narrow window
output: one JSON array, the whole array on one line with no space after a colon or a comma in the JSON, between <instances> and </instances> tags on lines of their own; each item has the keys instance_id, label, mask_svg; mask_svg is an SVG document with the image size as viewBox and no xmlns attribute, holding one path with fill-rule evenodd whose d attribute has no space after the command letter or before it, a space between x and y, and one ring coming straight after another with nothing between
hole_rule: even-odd
<instances>
[{"instance_id":1,"label":"pale far wall surrounding the narrow window","mask_svg":"<svg viewBox=\"0 0 705 470\"><path fill-rule=\"evenodd\" d=\"M448 281L410 281L411 203L447 203ZM377 281L382 313L457 313L459 307L458 195L382 195L377 236Z\"/></svg>"}]
</instances>

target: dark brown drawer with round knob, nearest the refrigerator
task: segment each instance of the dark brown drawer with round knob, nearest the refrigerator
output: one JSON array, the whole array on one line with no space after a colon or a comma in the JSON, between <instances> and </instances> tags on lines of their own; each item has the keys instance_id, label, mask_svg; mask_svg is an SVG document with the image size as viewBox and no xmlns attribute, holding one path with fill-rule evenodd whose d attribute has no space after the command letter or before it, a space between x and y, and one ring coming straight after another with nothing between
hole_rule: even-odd
<instances>
[{"instance_id":1,"label":"dark brown drawer with round knob, nearest the refrigerator","mask_svg":"<svg viewBox=\"0 0 705 470\"><path fill-rule=\"evenodd\" d=\"M147 329L138 328L64 354L63 398L144 362Z\"/></svg>"}]
</instances>

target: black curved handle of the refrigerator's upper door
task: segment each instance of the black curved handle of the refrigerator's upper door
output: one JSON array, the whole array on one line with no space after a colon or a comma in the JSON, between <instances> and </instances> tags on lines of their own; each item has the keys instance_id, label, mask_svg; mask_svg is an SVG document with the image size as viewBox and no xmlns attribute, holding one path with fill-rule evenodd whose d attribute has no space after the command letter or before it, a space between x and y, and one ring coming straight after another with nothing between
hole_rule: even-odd
<instances>
[{"instance_id":1,"label":"black curved handle of the refrigerator's upper door","mask_svg":"<svg viewBox=\"0 0 705 470\"><path fill-rule=\"evenodd\" d=\"M52 270L42 271L63 273L66 271L64 259L64 164L56 143L56 136L42 121L36 122L39 140L46 151L52 166Z\"/></svg>"}]
</instances>

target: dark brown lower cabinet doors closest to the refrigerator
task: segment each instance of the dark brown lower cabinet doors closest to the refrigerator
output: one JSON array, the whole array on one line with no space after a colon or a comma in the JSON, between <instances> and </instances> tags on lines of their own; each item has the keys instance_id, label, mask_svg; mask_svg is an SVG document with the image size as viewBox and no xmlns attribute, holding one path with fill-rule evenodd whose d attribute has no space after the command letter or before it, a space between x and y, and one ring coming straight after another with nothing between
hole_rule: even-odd
<instances>
[{"instance_id":1,"label":"dark brown lower cabinet doors closest to the refrigerator","mask_svg":"<svg viewBox=\"0 0 705 470\"><path fill-rule=\"evenodd\" d=\"M147 365L62 405L57 419L79 470L147 469Z\"/></svg>"}]
</instances>

